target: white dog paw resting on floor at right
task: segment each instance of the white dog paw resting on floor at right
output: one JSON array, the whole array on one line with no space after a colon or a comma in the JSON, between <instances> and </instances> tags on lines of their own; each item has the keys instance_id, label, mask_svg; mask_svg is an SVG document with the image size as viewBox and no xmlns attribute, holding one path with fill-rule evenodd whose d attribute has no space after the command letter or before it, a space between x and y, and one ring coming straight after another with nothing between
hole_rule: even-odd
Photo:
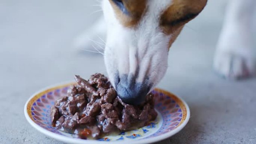
<instances>
[{"instance_id":1,"label":"white dog paw resting on floor at right","mask_svg":"<svg viewBox=\"0 0 256 144\"><path fill-rule=\"evenodd\" d=\"M217 52L214 70L228 79L243 79L255 74L255 65L252 58L231 52Z\"/></svg>"}]
</instances>

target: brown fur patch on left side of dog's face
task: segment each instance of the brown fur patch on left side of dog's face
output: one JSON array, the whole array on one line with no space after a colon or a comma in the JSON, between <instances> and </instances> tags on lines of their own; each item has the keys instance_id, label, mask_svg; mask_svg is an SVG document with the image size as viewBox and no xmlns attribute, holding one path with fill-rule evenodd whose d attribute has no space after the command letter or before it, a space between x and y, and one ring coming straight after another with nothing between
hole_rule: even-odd
<instances>
[{"instance_id":1,"label":"brown fur patch on left side of dog's face","mask_svg":"<svg viewBox=\"0 0 256 144\"><path fill-rule=\"evenodd\" d=\"M109 1L113 6L117 19L125 27L135 27L140 21L143 13L146 11L147 0L122 0L128 14L123 13L113 0Z\"/></svg>"}]
</instances>

